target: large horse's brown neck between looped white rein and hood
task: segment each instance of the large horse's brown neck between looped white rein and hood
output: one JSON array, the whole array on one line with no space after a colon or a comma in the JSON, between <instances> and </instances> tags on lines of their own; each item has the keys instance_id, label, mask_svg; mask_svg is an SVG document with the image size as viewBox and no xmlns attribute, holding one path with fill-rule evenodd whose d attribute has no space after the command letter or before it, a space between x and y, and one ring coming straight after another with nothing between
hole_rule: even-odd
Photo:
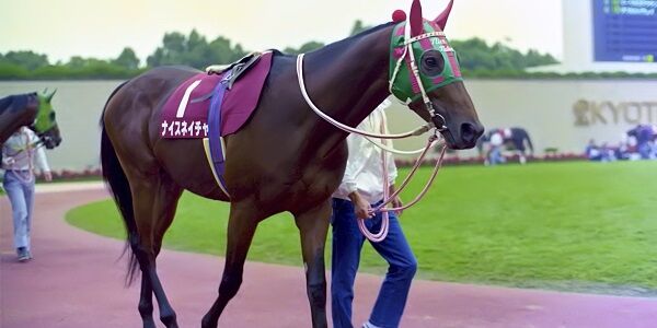
<instances>
[{"instance_id":1,"label":"large horse's brown neck between looped white rein and hood","mask_svg":"<svg viewBox=\"0 0 657 328\"><path fill-rule=\"evenodd\" d=\"M318 107L354 127L385 99L392 27L308 54L304 75Z\"/></svg>"}]
</instances>

